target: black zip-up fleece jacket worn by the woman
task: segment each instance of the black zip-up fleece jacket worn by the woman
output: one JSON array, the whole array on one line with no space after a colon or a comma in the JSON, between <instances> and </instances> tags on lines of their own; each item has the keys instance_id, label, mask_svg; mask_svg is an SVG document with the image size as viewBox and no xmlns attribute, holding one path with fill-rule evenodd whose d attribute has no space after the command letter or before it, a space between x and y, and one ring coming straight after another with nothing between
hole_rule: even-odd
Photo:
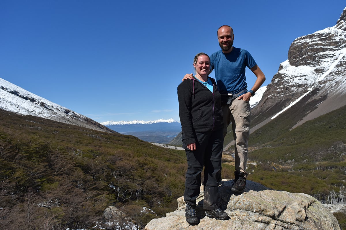
<instances>
[{"instance_id":1,"label":"black zip-up fleece jacket worn by the woman","mask_svg":"<svg viewBox=\"0 0 346 230\"><path fill-rule=\"evenodd\" d=\"M209 79L213 83L213 92L195 78L184 80L178 86L179 117L184 144L197 142L195 132L214 131L224 127L221 94L215 80Z\"/></svg>"}]
</instances>

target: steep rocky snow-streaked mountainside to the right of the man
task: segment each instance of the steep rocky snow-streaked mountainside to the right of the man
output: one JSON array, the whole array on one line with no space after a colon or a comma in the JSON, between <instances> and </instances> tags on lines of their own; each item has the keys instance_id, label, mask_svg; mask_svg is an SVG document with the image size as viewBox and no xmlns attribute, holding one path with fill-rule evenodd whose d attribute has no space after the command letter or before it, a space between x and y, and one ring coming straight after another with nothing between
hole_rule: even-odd
<instances>
[{"instance_id":1,"label":"steep rocky snow-streaked mountainside to the right of the man","mask_svg":"<svg viewBox=\"0 0 346 230\"><path fill-rule=\"evenodd\" d=\"M252 111L260 128L285 112L297 127L346 105L346 8L336 25L295 39L263 98ZM294 128L292 127L292 128Z\"/></svg>"}]
</instances>

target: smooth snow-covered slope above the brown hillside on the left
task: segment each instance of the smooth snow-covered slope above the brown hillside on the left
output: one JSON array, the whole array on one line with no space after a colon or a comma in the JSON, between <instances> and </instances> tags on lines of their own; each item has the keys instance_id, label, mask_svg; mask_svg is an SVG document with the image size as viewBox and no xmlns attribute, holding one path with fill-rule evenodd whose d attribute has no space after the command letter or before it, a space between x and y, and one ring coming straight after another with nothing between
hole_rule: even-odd
<instances>
[{"instance_id":1,"label":"smooth snow-covered slope above the brown hillside on the left","mask_svg":"<svg viewBox=\"0 0 346 230\"><path fill-rule=\"evenodd\" d=\"M0 78L0 109L21 115L42 117L89 129L113 132L100 123L48 101Z\"/></svg>"}]
</instances>

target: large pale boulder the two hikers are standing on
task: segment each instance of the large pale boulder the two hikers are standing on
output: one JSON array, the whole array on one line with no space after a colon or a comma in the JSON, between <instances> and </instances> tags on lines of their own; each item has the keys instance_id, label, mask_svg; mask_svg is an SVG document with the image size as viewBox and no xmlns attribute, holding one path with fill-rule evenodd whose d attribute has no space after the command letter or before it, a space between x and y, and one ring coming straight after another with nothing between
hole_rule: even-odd
<instances>
[{"instance_id":1,"label":"large pale boulder the two hikers are standing on","mask_svg":"<svg viewBox=\"0 0 346 230\"><path fill-rule=\"evenodd\" d=\"M145 230L341 230L333 214L307 194L275 191L252 181L247 181L244 193L239 195L231 192L230 187L231 180L224 180L218 199L228 220L205 216L201 192L196 208L198 225L190 226L185 221L185 204L181 197L177 210L164 218L151 220Z\"/></svg>"}]
</instances>

